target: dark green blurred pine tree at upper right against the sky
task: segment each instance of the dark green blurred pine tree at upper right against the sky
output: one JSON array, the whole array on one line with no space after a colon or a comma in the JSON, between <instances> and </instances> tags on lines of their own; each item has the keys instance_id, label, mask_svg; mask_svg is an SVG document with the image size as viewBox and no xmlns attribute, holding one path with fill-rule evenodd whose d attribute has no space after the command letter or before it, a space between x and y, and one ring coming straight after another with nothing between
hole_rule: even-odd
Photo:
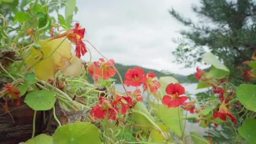
<instances>
[{"instance_id":1,"label":"dark green blurred pine tree at upper right against the sky","mask_svg":"<svg viewBox=\"0 0 256 144\"><path fill-rule=\"evenodd\" d=\"M243 66L243 61L251 59L256 45L256 16L254 0L200 0L192 10L200 16L200 22L184 18L173 8L170 14L182 24L190 27L182 30L183 38L173 54L178 63L193 67L201 61L206 51L211 51L224 62L230 70L230 81L241 83L237 76L241 72L236 67ZM217 68L217 67L216 67Z\"/></svg>"}]
</instances>

